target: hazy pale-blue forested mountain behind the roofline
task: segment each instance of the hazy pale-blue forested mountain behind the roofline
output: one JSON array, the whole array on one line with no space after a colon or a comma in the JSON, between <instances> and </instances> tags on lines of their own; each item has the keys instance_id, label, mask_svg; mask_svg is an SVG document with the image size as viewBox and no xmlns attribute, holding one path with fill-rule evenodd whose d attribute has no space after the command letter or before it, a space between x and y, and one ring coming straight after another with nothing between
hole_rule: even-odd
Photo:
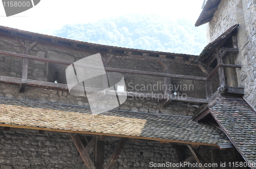
<instances>
[{"instance_id":1,"label":"hazy pale-blue forested mountain behind the roofline","mask_svg":"<svg viewBox=\"0 0 256 169\"><path fill-rule=\"evenodd\" d=\"M204 26L195 21L156 15L126 15L94 23L69 24L56 36L145 50L199 54L206 46Z\"/></svg>"}]
</instances>

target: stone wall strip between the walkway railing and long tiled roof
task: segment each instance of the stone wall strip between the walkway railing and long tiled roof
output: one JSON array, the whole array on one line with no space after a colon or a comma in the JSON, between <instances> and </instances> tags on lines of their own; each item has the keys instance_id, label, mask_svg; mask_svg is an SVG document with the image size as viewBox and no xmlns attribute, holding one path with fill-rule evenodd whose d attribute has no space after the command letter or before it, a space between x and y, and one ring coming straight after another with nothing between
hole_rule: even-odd
<instances>
[{"instance_id":1,"label":"stone wall strip between the walkway railing and long tiled roof","mask_svg":"<svg viewBox=\"0 0 256 169\"><path fill-rule=\"evenodd\" d=\"M72 96L69 94L69 92L65 91L26 88L24 93L18 93L18 89L18 86L0 84L0 97L89 106L86 97ZM199 111L198 106L183 104L182 102L171 102L167 107L162 107L161 104L162 101L158 101L156 99L147 100L128 98L120 107L117 107L116 109L181 116L194 116Z\"/></svg>"}]
</instances>

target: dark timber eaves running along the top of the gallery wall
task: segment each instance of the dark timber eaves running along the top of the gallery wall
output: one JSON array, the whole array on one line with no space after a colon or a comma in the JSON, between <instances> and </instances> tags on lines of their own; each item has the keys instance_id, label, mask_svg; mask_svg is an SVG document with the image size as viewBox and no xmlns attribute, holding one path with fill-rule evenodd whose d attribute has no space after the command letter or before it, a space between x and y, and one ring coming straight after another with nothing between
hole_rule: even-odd
<instances>
[{"instance_id":1,"label":"dark timber eaves running along the top of the gallery wall","mask_svg":"<svg viewBox=\"0 0 256 169\"><path fill-rule=\"evenodd\" d=\"M125 57L129 59L155 60L162 58L165 60L178 60L180 64L197 65L196 55L178 54L159 51L148 51L140 49L131 49L115 46L100 45L82 41L76 41L66 38L42 35L27 31L12 29L10 27L0 26L0 37L16 40L16 38L34 42L45 46L53 46L60 49L74 50L79 52L87 52L91 54L101 53L115 55L115 57Z\"/></svg>"}]
</instances>

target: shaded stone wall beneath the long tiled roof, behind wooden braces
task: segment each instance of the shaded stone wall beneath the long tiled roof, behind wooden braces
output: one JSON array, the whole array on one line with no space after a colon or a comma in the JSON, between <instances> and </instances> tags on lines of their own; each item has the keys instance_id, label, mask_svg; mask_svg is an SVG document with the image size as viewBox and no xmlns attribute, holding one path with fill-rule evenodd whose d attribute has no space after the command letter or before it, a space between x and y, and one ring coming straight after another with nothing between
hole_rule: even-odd
<instances>
[{"instance_id":1,"label":"shaded stone wall beneath the long tiled roof, behind wooden braces","mask_svg":"<svg viewBox=\"0 0 256 169\"><path fill-rule=\"evenodd\" d=\"M0 168L86 168L77 164L78 151L69 134L36 131L0 130ZM105 164L114 152L120 138L106 137ZM90 154L94 161L94 153ZM176 162L176 151L170 144L132 142L129 140L113 168L151 168L150 162Z\"/></svg>"}]
</instances>

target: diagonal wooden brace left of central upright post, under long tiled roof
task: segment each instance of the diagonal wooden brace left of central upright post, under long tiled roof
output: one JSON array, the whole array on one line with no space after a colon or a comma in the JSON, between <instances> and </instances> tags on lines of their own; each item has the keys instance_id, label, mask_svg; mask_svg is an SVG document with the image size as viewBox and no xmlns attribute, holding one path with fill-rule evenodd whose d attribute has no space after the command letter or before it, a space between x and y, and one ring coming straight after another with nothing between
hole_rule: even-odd
<instances>
[{"instance_id":1,"label":"diagonal wooden brace left of central upright post, under long tiled roof","mask_svg":"<svg viewBox=\"0 0 256 169\"><path fill-rule=\"evenodd\" d=\"M72 140L73 140L73 142L76 146L76 149L78 150L80 156L82 157L82 160L83 160L84 164L86 164L87 168L88 169L95 169L95 166L93 165L93 162L90 159L86 149L84 149L78 135L75 134L75 133L71 133L70 136L71 136L71 138L72 138Z\"/></svg>"}]
</instances>

